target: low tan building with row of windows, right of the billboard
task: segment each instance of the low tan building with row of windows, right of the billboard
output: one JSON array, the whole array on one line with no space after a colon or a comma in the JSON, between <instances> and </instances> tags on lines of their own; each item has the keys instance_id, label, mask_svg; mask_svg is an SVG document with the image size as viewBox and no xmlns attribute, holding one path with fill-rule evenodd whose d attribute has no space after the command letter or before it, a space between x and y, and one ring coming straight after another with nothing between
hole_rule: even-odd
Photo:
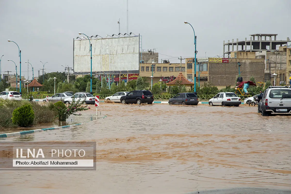
<instances>
[{"instance_id":1,"label":"low tan building with row of windows, right of the billboard","mask_svg":"<svg viewBox=\"0 0 291 194\"><path fill-rule=\"evenodd\" d=\"M152 65L155 65L152 67ZM153 73L152 83L159 82L162 79L165 83L173 81L180 73L185 73L185 64L180 63L140 63L139 76L147 77L150 81L150 76Z\"/></svg>"}]
</instances>

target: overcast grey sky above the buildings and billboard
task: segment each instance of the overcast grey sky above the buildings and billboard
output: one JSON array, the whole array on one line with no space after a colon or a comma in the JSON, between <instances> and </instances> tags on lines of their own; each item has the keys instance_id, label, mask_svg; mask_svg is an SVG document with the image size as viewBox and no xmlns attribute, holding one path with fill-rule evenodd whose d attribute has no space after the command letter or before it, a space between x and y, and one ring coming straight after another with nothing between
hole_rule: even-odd
<instances>
[{"instance_id":1,"label":"overcast grey sky above the buildings and billboard","mask_svg":"<svg viewBox=\"0 0 291 194\"><path fill-rule=\"evenodd\" d=\"M129 32L142 35L145 50L156 49L159 61L194 57L194 34L199 57L223 54L223 40L244 40L254 33L277 33L277 40L291 38L290 0L128 0ZM0 56L3 71L19 73L18 48L22 50L22 75L27 78L27 59L38 76L73 67L73 38L125 33L126 0L0 0ZM166 56L168 55L168 56ZM7 72L6 72L7 73ZM42 72L40 71L40 74ZM29 76L32 77L31 67Z\"/></svg>"}]
</instances>

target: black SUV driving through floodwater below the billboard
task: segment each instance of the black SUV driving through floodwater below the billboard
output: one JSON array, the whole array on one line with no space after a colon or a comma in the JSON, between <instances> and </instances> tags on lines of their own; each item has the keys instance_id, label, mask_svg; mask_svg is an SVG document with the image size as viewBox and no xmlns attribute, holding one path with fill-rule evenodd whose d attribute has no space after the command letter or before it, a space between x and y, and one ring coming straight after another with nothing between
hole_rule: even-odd
<instances>
[{"instance_id":1,"label":"black SUV driving through floodwater below the billboard","mask_svg":"<svg viewBox=\"0 0 291 194\"><path fill-rule=\"evenodd\" d=\"M152 104L154 102L154 96L152 92L148 90L134 90L129 92L127 95L120 97L122 104Z\"/></svg>"}]
</instances>

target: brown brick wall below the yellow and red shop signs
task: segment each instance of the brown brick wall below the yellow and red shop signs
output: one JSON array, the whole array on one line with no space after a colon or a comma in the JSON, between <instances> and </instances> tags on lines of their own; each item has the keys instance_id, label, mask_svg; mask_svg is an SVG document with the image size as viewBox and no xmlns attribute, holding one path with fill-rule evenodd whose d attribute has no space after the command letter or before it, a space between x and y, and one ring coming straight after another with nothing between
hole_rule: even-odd
<instances>
[{"instance_id":1,"label":"brown brick wall below the yellow and red shop signs","mask_svg":"<svg viewBox=\"0 0 291 194\"><path fill-rule=\"evenodd\" d=\"M233 86L239 74L238 62L240 66L243 81L249 81L251 76L255 77L255 81L264 81L264 59L238 59L230 58L229 63L209 63L208 81L215 86Z\"/></svg>"}]
</instances>

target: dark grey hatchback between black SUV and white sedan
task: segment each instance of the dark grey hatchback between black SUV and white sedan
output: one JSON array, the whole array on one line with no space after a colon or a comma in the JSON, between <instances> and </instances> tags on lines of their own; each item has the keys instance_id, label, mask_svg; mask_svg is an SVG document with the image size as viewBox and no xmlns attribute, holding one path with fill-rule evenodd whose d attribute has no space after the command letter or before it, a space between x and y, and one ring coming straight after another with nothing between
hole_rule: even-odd
<instances>
[{"instance_id":1,"label":"dark grey hatchback between black SUV and white sedan","mask_svg":"<svg viewBox=\"0 0 291 194\"><path fill-rule=\"evenodd\" d=\"M182 105L197 105L198 97L194 93L179 93L175 95L173 98L169 99L169 105L172 104L182 104Z\"/></svg>"}]
</instances>

